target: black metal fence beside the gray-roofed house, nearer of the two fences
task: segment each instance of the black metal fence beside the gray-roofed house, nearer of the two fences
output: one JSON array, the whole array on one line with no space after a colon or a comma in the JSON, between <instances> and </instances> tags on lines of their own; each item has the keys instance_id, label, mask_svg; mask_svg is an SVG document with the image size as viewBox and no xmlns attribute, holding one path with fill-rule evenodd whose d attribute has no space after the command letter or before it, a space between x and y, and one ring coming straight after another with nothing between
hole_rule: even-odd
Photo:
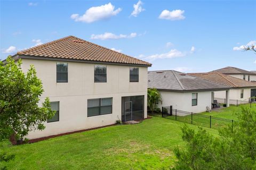
<instances>
[{"instance_id":1,"label":"black metal fence beside the gray-roofed house, nearer of the two fences","mask_svg":"<svg viewBox=\"0 0 256 170\"><path fill-rule=\"evenodd\" d=\"M172 106L162 107L162 117L215 130L222 130L223 128L233 129L235 122L226 118L172 109Z\"/></svg>"}]
</instances>

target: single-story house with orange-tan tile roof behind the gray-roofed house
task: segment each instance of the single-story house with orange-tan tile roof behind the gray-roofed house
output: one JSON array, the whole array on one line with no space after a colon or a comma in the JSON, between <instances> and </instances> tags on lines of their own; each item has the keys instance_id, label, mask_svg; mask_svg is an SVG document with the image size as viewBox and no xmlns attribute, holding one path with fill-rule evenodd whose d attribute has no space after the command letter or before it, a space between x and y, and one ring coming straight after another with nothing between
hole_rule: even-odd
<instances>
[{"instance_id":1,"label":"single-story house with orange-tan tile roof behind the gray-roofed house","mask_svg":"<svg viewBox=\"0 0 256 170\"><path fill-rule=\"evenodd\" d=\"M250 98L256 97L256 83L254 82L241 80L217 72L189 73L189 75L229 86L231 88L229 92L230 104L235 105L237 103L236 100L249 101ZM223 91L215 92L214 95L215 98L225 98L225 92ZM219 102L223 103L223 100L219 100Z\"/></svg>"}]
</instances>

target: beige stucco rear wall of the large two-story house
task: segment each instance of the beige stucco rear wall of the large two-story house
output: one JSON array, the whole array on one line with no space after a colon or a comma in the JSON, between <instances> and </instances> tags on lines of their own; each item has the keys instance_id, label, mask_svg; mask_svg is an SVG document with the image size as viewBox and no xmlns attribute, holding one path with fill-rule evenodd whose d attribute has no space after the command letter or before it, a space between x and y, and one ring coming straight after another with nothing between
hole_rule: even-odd
<instances>
[{"instance_id":1,"label":"beige stucco rear wall of the large two-story house","mask_svg":"<svg viewBox=\"0 0 256 170\"><path fill-rule=\"evenodd\" d=\"M107 66L107 82L94 83L94 64L68 62L68 83L56 82L56 61L22 60L22 70L33 64L42 80L44 93L41 101L60 101L59 122L45 123L44 131L33 131L29 139L96 128L121 120L123 96L145 96L144 116L147 117L147 67L139 67L139 82L130 82L130 66ZM87 117L87 99L113 97L113 113Z\"/></svg>"}]
</instances>

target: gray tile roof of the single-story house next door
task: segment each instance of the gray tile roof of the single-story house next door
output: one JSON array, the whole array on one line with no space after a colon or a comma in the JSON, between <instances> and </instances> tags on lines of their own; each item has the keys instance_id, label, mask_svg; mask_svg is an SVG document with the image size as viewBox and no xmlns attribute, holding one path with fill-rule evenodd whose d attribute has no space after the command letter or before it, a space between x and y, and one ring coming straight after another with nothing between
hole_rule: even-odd
<instances>
[{"instance_id":1,"label":"gray tile roof of the single-story house next door","mask_svg":"<svg viewBox=\"0 0 256 170\"><path fill-rule=\"evenodd\" d=\"M230 87L174 70L149 71L148 88L168 91L209 91Z\"/></svg>"}]
</instances>

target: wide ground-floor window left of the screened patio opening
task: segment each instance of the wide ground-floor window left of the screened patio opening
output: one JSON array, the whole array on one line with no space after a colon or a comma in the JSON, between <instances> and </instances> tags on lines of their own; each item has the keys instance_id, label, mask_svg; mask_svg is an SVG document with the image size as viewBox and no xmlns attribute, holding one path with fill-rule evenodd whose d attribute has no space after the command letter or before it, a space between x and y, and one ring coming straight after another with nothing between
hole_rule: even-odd
<instances>
[{"instance_id":1,"label":"wide ground-floor window left of the screened patio opening","mask_svg":"<svg viewBox=\"0 0 256 170\"><path fill-rule=\"evenodd\" d=\"M87 100L87 116L97 116L112 113L112 98Z\"/></svg>"}]
</instances>

